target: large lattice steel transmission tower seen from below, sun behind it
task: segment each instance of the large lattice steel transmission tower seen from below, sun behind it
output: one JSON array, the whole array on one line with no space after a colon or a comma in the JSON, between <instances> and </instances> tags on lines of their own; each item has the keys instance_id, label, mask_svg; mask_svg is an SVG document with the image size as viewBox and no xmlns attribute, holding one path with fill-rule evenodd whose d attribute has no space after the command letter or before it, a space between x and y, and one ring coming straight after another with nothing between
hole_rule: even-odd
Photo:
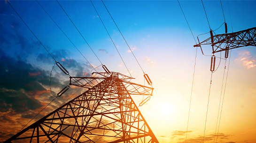
<instances>
[{"instance_id":1,"label":"large lattice steel transmission tower seen from below, sun behind it","mask_svg":"<svg viewBox=\"0 0 256 143\"><path fill-rule=\"evenodd\" d=\"M159 143L131 98L153 88L116 72L93 74L70 77L88 90L4 143Z\"/></svg>"}]
</instances>

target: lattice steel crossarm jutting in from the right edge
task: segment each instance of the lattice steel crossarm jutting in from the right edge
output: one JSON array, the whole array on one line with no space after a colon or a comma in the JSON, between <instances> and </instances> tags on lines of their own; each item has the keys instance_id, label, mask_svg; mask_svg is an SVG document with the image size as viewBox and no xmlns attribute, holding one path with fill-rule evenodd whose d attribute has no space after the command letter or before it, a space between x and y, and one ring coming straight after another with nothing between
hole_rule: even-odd
<instances>
[{"instance_id":1,"label":"lattice steel crossarm jutting in from the right edge","mask_svg":"<svg viewBox=\"0 0 256 143\"><path fill-rule=\"evenodd\" d=\"M194 45L194 47L212 45L212 53L217 53L243 46L256 46L256 27L233 33L218 34L212 38L207 38L199 44ZM222 44L225 44L225 46L221 47Z\"/></svg>"}]
</instances>

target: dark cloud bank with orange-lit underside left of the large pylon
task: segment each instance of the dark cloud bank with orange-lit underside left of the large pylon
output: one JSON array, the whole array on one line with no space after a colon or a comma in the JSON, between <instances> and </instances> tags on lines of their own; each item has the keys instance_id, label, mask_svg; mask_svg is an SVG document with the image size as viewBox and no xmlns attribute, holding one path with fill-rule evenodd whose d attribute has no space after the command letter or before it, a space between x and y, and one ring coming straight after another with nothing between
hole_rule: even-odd
<instances>
[{"instance_id":1,"label":"dark cloud bank with orange-lit underside left of the large pylon","mask_svg":"<svg viewBox=\"0 0 256 143\"><path fill-rule=\"evenodd\" d=\"M1 142L12 136L12 133L16 133L17 128L22 128L54 97L51 96L49 90L49 70L33 67L22 59L16 60L7 56L2 49L0 49L0 61L0 128L7 134L0 133ZM77 71L84 69L83 66L85 64L71 58L66 58L62 65ZM69 84L69 80L64 80L60 74L61 71L57 68L54 69L51 87L53 94L56 95L54 90L59 92ZM86 69L81 70L81 75L86 75L86 71ZM62 97L57 98L52 104L48 105L35 120L58 108L77 90L70 88ZM80 93L78 92L77 94Z\"/></svg>"}]
</instances>

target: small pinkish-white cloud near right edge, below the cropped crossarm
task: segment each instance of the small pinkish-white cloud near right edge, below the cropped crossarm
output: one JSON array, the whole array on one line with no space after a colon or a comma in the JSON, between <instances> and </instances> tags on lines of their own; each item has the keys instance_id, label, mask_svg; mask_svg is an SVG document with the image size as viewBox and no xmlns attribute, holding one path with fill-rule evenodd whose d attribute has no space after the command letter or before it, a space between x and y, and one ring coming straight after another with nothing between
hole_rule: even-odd
<instances>
[{"instance_id":1,"label":"small pinkish-white cloud near right edge, below the cropped crossarm","mask_svg":"<svg viewBox=\"0 0 256 143\"><path fill-rule=\"evenodd\" d=\"M256 60L254 57L250 56L249 51L242 51L239 55L240 57L236 60L241 61L244 67L247 69L256 67Z\"/></svg>"}]
</instances>

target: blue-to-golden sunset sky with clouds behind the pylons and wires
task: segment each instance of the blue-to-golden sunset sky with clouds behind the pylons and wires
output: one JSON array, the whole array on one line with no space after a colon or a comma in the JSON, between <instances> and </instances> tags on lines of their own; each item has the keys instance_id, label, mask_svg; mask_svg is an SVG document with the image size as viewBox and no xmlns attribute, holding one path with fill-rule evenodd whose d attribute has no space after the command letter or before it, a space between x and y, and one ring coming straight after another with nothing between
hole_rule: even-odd
<instances>
[{"instance_id":1,"label":"blue-to-golden sunset sky with clouds behind the pylons and wires","mask_svg":"<svg viewBox=\"0 0 256 143\"><path fill-rule=\"evenodd\" d=\"M39 1L90 64L36 1L9 2L71 76L90 76L93 69L90 64L98 67L101 62L110 71L129 75L117 48L135 78L132 82L144 84L142 70L100 0L93 0L93 4L116 48L89 0L59 2L101 62L57 1ZM203 0L205 11L201 0L179 2L195 39L224 22L228 33L255 27L256 0L222 0L223 11L219 0ZM139 109L160 143L185 143L186 129L186 143L202 143L205 127L204 143L216 142L220 119L217 143L256 143L255 47L233 49L226 62L217 58L219 66L211 79L210 57L193 47L198 41L194 41L177 0L104 0L104 3L153 83L153 96ZM54 98L49 87L54 60L31 31L8 2L0 0L0 142L16 134ZM224 25L215 33L225 33ZM202 41L209 36L208 33L198 38ZM210 46L202 46L202 50L212 55ZM215 55L223 58L224 54ZM56 67L51 76L51 89L56 95L68 85L69 77ZM69 100L77 90L71 88L54 100L31 123ZM79 90L73 97L84 91ZM145 97L132 98L139 105ZM221 116L218 111L222 111Z\"/></svg>"}]
</instances>

